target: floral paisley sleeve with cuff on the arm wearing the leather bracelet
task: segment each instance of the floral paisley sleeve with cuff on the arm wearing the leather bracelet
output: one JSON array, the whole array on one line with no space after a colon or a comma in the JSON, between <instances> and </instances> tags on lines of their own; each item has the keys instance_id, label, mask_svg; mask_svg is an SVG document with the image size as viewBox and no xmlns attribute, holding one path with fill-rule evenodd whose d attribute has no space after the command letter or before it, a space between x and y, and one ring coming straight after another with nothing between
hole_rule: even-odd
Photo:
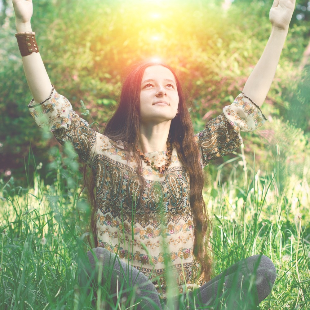
<instances>
[{"instance_id":1,"label":"floral paisley sleeve with cuff on the arm wearing the leather bracelet","mask_svg":"<svg viewBox=\"0 0 310 310\"><path fill-rule=\"evenodd\" d=\"M61 144L69 141L82 162L91 161L96 132L73 111L69 100L58 94L54 87L47 100L39 104L31 100L28 108L38 126L47 127Z\"/></svg>"}]
</instances>

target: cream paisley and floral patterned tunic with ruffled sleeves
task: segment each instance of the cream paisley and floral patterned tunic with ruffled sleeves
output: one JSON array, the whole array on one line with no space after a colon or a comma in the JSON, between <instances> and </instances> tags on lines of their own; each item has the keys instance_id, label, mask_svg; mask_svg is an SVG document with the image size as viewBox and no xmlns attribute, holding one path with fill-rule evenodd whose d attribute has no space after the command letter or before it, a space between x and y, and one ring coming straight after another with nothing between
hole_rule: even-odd
<instances>
[{"instance_id":1,"label":"cream paisley and floral patterned tunic with ruffled sleeves","mask_svg":"<svg viewBox=\"0 0 310 310\"><path fill-rule=\"evenodd\" d=\"M136 171L134 157L126 157L121 141L113 141L89 127L69 101L54 89L42 103L29 104L40 127L48 126L56 139L73 145L92 169L96 184L98 246L117 253L146 274L164 295L167 281L193 284L199 264L193 257L193 216L189 175L173 149L168 170L160 174L142 162ZM242 94L223 113L208 122L195 139L201 166L238 148L240 130L252 131L266 118ZM165 162L165 152L147 155ZM167 276L169 275L169 276Z\"/></svg>"}]
</instances>

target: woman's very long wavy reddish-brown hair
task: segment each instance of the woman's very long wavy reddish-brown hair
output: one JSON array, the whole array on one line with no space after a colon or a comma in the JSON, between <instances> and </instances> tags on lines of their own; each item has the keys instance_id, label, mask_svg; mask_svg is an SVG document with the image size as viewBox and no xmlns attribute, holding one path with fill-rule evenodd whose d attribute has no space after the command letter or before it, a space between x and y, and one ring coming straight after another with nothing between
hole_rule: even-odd
<instances>
[{"instance_id":1,"label":"woman's very long wavy reddish-brown hair","mask_svg":"<svg viewBox=\"0 0 310 310\"><path fill-rule=\"evenodd\" d=\"M199 161L199 149L194 140L194 130L191 117L186 106L186 98L181 83L174 70L162 63L141 62L135 64L125 78L117 109L108 120L104 128L104 135L109 138L126 142L127 152L135 156L138 163L137 173L141 167L141 157L135 152L139 142L140 127L140 91L144 70L153 65L161 65L169 69L175 76L179 95L178 117L171 121L168 141L176 148L179 159L187 170L190 179L190 204L194 224L194 255L201 264L200 280L210 280L211 260L208 254L208 240L211 224L207 215L206 205L202 198L202 189L205 184L204 174ZM86 170L84 180L93 204L91 214L91 227L96 240L95 197L93 178L87 183ZM96 244L96 241L95 241Z\"/></svg>"}]
</instances>

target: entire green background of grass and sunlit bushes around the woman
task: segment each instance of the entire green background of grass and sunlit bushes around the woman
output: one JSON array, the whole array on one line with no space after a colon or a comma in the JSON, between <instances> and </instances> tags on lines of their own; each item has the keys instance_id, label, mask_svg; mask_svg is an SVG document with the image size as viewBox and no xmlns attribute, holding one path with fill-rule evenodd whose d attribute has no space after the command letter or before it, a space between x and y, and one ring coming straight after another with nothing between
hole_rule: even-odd
<instances>
[{"instance_id":1,"label":"entire green background of grass and sunlit bushes around the woman","mask_svg":"<svg viewBox=\"0 0 310 310\"><path fill-rule=\"evenodd\" d=\"M213 223L212 276L250 255L268 256L277 279L258 307L266 310L310 309L310 2L296 2L262 107L268 122L210 163L203 193ZM126 68L160 59L188 91L198 132L242 90L268 40L271 4L33 0L32 28L56 90L96 130L115 109ZM0 0L0 310L134 309L121 292L111 296L108 283L98 286L99 302L79 285L94 246L90 206L84 192L78 198L76 154L29 115L14 33L11 2ZM216 303L209 308L225 309Z\"/></svg>"}]
</instances>

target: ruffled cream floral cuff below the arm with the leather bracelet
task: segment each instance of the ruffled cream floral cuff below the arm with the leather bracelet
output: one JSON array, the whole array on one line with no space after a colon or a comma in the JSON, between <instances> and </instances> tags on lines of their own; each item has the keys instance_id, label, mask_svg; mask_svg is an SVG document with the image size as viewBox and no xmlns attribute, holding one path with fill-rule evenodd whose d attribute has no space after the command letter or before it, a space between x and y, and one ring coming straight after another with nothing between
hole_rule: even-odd
<instances>
[{"instance_id":1,"label":"ruffled cream floral cuff below the arm with the leather bracelet","mask_svg":"<svg viewBox=\"0 0 310 310\"><path fill-rule=\"evenodd\" d=\"M72 106L67 98L55 91L54 86L49 98L39 104L32 99L28 108L38 126L47 127L51 132L58 128L67 129L71 124Z\"/></svg>"}]
</instances>

